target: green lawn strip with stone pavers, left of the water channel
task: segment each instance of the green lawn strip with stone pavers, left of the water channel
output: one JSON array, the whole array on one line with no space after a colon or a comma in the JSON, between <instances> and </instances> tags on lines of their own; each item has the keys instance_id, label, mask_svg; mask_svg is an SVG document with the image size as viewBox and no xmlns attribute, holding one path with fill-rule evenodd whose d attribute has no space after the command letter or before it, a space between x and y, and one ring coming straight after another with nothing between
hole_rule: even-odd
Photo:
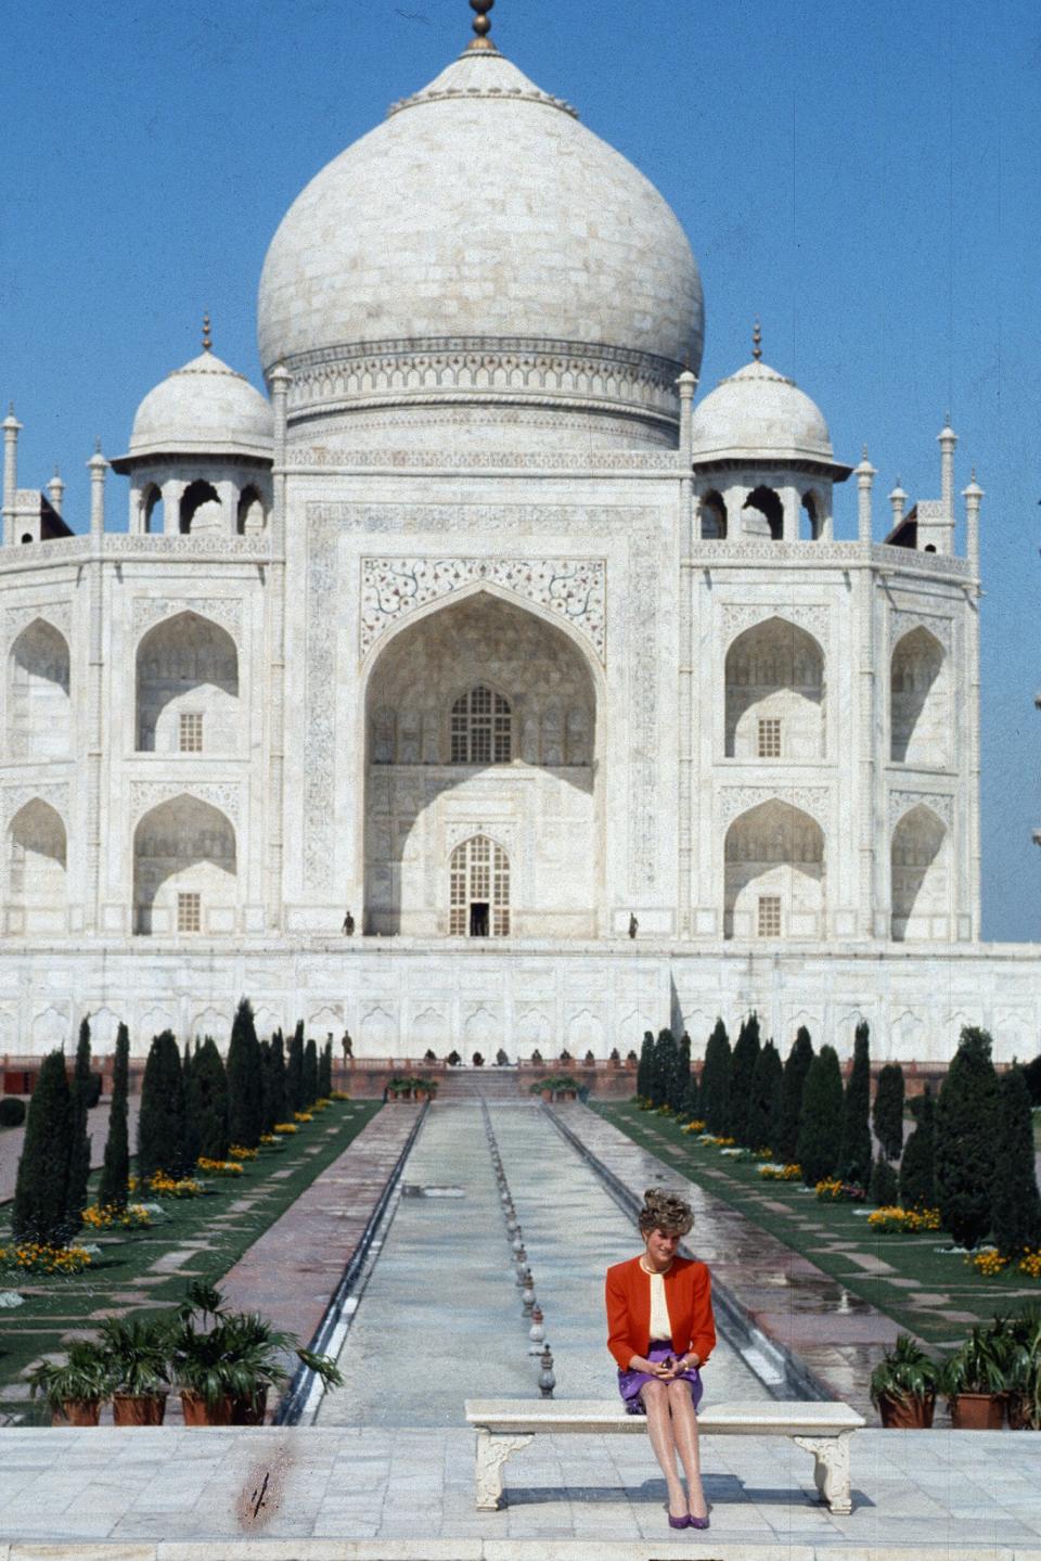
<instances>
[{"instance_id":1,"label":"green lawn strip with stone pavers, left of the water channel","mask_svg":"<svg viewBox=\"0 0 1041 1561\"><path fill-rule=\"evenodd\" d=\"M164 1218L156 1216L145 1230L81 1230L73 1244L97 1243L101 1249L83 1274L50 1278L0 1271L0 1291L25 1296L23 1305L0 1308L0 1425L8 1417L50 1424L42 1400L30 1400L20 1380L42 1353L61 1350L72 1335L97 1327L103 1317L144 1316L176 1305L189 1278L220 1282L379 1108L379 1102L368 1101L334 1102L312 1122L300 1122L281 1144L262 1146L256 1160L243 1161L242 1175L198 1172L206 1183L203 1197L142 1194L142 1202L162 1204ZM91 1199L97 1182L95 1172ZM8 1205L0 1218L0 1246L9 1243L9 1235Z\"/></svg>"}]
</instances>

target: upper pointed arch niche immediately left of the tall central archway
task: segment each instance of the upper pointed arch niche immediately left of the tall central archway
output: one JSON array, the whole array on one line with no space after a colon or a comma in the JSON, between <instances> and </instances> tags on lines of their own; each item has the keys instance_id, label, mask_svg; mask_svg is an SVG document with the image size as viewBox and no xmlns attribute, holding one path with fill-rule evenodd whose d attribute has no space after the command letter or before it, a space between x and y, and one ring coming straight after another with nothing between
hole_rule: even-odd
<instances>
[{"instance_id":1,"label":"upper pointed arch niche immediately left of the tall central archway","mask_svg":"<svg viewBox=\"0 0 1041 1561\"><path fill-rule=\"evenodd\" d=\"M237 751L239 651L226 629L195 612L179 612L144 635L136 724L139 752Z\"/></svg>"}]
</instances>

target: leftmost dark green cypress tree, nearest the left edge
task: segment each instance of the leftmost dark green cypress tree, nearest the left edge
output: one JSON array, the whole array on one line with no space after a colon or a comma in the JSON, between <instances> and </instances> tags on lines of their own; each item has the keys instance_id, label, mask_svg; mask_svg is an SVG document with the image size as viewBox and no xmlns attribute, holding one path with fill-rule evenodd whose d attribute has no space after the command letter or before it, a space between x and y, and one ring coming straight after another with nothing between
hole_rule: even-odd
<instances>
[{"instance_id":1,"label":"leftmost dark green cypress tree, nearest the left edge","mask_svg":"<svg viewBox=\"0 0 1041 1561\"><path fill-rule=\"evenodd\" d=\"M16 1241L61 1246L69 1235L72 1125L66 1055L48 1052L30 1101L14 1183L11 1232Z\"/></svg>"}]
</instances>

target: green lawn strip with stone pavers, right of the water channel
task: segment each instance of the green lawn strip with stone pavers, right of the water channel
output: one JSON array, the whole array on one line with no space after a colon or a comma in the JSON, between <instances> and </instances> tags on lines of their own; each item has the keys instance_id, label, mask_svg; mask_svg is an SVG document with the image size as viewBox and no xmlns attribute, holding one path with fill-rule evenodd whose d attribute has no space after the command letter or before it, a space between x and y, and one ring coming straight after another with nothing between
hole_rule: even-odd
<instances>
[{"instance_id":1,"label":"green lawn strip with stone pavers, right of the water channel","mask_svg":"<svg viewBox=\"0 0 1041 1561\"><path fill-rule=\"evenodd\" d=\"M958 1344L966 1324L1016 1310L1027 1297L1041 1300L1038 1280L1014 1269L985 1278L969 1268L963 1253L938 1250L952 1246L943 1230L918 1236L876 1233L866 1214L854 1213L863 1210L863 1204L824 1202L801 1182L766 1182L759 1175L757 1161L734 1160L713 1146L699 1144L696 1135L684 1133L673 1118L631 1104L590 1101L588 1105L665 1165L676 1166L930 1344ZM858 1257L868 1260L868 1269L876 1269L879 1261L886 1269L868 1272Z\"/></svg>"}]
</instances>

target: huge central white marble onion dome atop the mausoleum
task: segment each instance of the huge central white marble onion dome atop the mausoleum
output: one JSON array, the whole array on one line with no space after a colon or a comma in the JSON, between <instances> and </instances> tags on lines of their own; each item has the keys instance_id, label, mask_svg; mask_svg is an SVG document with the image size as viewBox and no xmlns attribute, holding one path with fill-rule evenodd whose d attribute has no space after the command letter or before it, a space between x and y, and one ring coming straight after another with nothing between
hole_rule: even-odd
<instances>
[{"instance_id":1,"label":"huge central white marble onion dome atop the mausoleum","mask_svg":"<svg viewBox=\"0 0 1041 1561\"><path fill-rule=\"evenodd\" d=\"M467 52L292 204L264 262L258 332L265 373L279 361L297 379L325 373L315 409L409 400L409 370L395 381L390 359L442 348L456 357L426 373L428 403L470 389L545 404L526 361L543 350L590 365L551 375L557 401L656 403L674 428L676 375L701 362L701 278L679 220L626 158L499 53ZM375 367L336 379L365 356Z\"/></svg>"}]
</instances>

